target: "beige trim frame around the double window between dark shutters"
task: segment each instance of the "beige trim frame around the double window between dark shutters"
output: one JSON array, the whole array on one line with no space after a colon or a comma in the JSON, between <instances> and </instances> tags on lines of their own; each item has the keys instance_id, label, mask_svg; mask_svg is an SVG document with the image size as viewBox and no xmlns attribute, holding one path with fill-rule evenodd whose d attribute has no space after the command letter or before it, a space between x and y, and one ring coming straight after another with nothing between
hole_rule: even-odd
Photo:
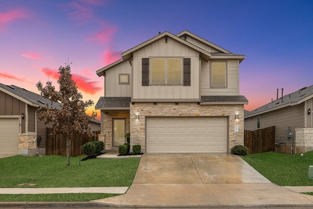
<instances>
[{"instance_id":1,"label":"beige trim frame around the double window between dark shutters","mask_svg":"<svg viewBox=\"0 0 313 209\"><path fill-rule=\"evenodd\" d=\"M180 59L180 83L152 83L152 59ZM149 82L151 86L183 86L183 69L184 69L184 57L149 57ZM167 81L167 65L165 69L165 81Z\"/></svg>"}]
</instances>

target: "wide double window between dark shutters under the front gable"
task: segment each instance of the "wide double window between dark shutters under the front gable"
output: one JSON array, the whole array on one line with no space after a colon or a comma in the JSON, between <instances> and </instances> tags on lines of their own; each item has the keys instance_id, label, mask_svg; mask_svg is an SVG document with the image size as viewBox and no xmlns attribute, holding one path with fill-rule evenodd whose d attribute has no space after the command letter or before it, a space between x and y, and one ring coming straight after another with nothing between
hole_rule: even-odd
<instances>
[{"instance_id":1,"label":"wide double window between dark shutters under the front gable","mask_svg":"<svg viewBox=\"0 0 313 209\"><path fill-rule=\"evenodd\" d=\"M181 84L181 58L151 58L151 84Z\"/></svg>"}]
</instances>

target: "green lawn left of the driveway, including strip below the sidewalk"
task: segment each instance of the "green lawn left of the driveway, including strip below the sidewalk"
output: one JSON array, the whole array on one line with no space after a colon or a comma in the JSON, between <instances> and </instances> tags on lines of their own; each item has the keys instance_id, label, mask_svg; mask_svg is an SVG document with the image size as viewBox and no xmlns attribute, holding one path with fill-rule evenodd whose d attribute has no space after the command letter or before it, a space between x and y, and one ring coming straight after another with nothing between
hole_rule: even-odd
<instances>
[{"instance_id":1,"label":"green lawn left of the driveway, including strip below the sidewalk","mask_svg":"<svg viewBox=\"0 0 313 209\"><path fill-rule=\"evenodd\" d=\"M13 156L0 159L0 187L103 187L131 186L140 158L92 159L80 161L71 157L66 166L66 157L61 156ZM37 184L17 186L18 184ZM3 195L1 201L89 201L115 194L41 194Z\"/></svg>"}]
</instances>

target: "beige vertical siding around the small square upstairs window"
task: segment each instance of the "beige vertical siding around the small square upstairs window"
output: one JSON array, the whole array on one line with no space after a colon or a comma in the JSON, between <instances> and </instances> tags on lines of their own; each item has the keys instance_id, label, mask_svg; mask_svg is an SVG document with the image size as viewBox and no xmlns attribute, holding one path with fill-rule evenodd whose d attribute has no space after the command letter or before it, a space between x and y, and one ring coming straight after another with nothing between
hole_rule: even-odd
<instances>
[{"instance_id":1,"label":"beige vertical siding around the small square upstairs window","mask_svg":"<svg viewBox=\"0 0 313 209\"><path fill-rule=\"evenodd\" d=\"M105 76L106 97L126 97L132 93L132 66L128 60L122 62L109 70ZM129 74L130 84L119 84L119 74Z\"/></svg>"}]
</instances>

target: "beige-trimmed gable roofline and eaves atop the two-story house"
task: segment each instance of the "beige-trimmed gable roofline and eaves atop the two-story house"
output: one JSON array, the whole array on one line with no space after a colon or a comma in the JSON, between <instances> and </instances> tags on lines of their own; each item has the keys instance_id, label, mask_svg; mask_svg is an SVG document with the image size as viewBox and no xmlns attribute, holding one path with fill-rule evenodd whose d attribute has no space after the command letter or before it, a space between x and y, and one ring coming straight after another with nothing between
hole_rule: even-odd
<instances>
[{"instance_id":1,"label":"beige-trimmed gable roofline and eaves atop the two-story house","mask_svg":"<svg viewBox=\"0 0 313 209\"><path fill-rule=\"evenodd\" d=\"M203 44L207 45L207 46L210 46L218 51L220 51L219 53L211 53L211 52L208 52L206 51L205 49L199 47L199 46L195 46L193 44L191 44L190 42L184 40L183 38L181 38L181 36L183 36L184 34L186 35L189 35L191 37L193 37L194 39L197 39L198 41L202 42ZM114 67L115 65L118 65L119 63L121 62L124 62L126 60L129 60L133 57L133 53L137 50L140 50L141 48L145 47L145 46L148 46L156 41L159 41L160 39L163 39L163 38L170 38L170 39L173 39L174 41L177 41L179 42L180 44L188 47L188 48L191 48L195 51L198 51L200 53L200 57L202 60L208 62L209 59L239 59L239 62L241 63L244 59L245 59L245 55L241 55L241 54L234 54L220 46L217 46L209 41L206 41L205 39L202 39L201 37L187 31L187 30L184 30L182 31L181 33L177 34L177 35L174 35L168 31L165 31L163 33L160 33L158 34L157 36L149 39L148 41L145 41L137 46L134 46L133 48L131 49L128 49L127 51L124 51L122 53L122 59L120 60L117 60L116 62L108 65L108 66L105 66L104 68L101 68L99 70L96 71L97 75L100 77L102 75L105 75L105 70L109 70L110 68Z\"/></svg>"}]
</instances>

